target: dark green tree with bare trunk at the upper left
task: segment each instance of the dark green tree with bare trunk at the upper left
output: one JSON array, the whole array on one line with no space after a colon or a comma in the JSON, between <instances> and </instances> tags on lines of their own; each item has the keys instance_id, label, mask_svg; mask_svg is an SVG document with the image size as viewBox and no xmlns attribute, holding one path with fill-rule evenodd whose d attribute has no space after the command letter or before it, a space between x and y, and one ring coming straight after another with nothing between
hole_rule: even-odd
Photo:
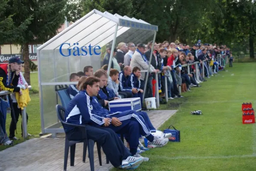
<instances>
[{"instance_id":1,"label":"dark green tree with bare trunk at the upper left","mask_svg":"<svg viewBox=\"0 0 256 171\"><path fill-rule=\"evenodd\" d=\"M30 84L29 44L40 44L48 41L57 34L57 29L65 21L65 6L67 0L9 0L10 7L5 16L12 15L15 27L19 27L24 20L32 16L31 23L20 34L18 41L21 44L24 56L24 78Z\"/></svg>"}]
</instances>

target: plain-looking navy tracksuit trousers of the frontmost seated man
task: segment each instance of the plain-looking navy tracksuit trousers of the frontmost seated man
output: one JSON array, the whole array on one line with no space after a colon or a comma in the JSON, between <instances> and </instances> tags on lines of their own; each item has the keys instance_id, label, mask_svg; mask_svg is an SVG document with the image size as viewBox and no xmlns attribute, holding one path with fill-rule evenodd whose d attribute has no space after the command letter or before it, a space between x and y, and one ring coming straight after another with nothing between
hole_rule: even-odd
<instances>
[{"instance_id":1,"label":"plain-looking navy tracksuit trousers of the frontmost seated man","mask_svg":"<svg viewBox=\"0 0 256 171\"><path fill-rule=\"evenodd\" d=\"M122 160L131 156L131 153L129 153L119 136L117 136L112 129L107 127L93 127L87 125L86 133L83 129L74 128L68 131L66 135L68 140L79 141L85 139L87 136L87 139L98 142L110 163L116 168L122 165Z\"/></svg>"}]
</instances>

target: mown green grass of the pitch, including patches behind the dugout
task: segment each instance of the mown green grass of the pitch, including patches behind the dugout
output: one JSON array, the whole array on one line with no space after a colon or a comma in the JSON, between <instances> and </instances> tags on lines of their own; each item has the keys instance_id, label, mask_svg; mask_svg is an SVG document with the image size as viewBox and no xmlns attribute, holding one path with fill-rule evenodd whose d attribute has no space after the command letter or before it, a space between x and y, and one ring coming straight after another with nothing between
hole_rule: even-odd
<instances>
[{"instance_id":1,"label":"mown green grass of the pitch, including patches behind the dugout","mask_svg":"<svg viewBox=\"0 0 256 171\"><path fill-rule=\"evenodd\" d=\"M149 161L138 171L256 170L256 124L242 124L241 119L241 103L252 102L256 106L256 63L235 63L226 70L202 83L202 87L182 94L185 98L161 106L161 109L179 109L161 130L172 124L181 131L181 142L169 142L143 153ZM37 73L31 74L31 85L38 89ZM30 97L28 132L38 137L41 132L39 94ZM203 115L190 115L192 110L202 110ZM9 123L10 115L6 121L8 129ZM0 150L5 148L0 146Z\"/></svg>"}]
</instances>

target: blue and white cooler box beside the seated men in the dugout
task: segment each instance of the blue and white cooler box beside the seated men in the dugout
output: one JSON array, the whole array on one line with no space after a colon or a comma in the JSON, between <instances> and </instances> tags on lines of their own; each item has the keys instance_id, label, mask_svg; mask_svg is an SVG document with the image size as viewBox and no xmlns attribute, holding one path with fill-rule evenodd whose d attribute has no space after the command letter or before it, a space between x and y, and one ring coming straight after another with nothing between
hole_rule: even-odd
<instances>
[{"instance_id":1,"label":"blue and white cooler box beside the seated men in the dugout","mask_svg":"<svg viewBox=\"0 0 256 171\"><path fill-rule=\"evenodd\" d=\"M116 99L108 102L110 112L124 112L127 110L141 110L140 97Z\"/></svg>"}]
</instances>

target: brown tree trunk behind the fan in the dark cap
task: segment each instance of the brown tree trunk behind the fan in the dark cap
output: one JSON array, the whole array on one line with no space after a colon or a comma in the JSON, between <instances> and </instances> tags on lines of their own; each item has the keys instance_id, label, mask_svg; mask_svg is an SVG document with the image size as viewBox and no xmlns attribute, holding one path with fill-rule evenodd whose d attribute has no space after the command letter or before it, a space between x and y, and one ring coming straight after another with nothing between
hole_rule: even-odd
<instances>
[{"instance_id":1,"label":"brown tree trunk behind the fan in the dark cap","mask_svg":"<svg viewBox=\"0 0 256 171\"><path fill-rule=\"evenodd\" d=\"M28 43L23 45L23 58L24 58L24 78L30 85L30 62L29 62L29 48Z\"/></svg>"}]
</instances>

